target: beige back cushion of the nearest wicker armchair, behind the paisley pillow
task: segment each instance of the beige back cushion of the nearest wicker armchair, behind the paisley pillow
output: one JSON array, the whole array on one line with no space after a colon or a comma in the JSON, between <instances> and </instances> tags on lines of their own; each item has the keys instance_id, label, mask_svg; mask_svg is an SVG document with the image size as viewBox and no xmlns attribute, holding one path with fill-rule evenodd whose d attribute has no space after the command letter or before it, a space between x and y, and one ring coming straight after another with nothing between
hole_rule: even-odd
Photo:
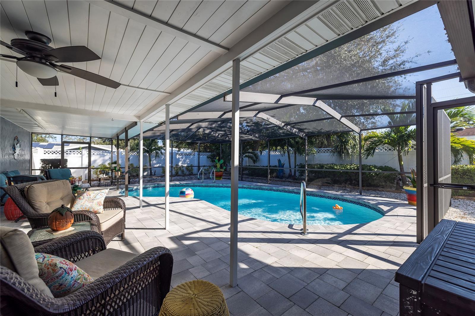
<instances>
[{"instance_id":1,"label":"beige back cushion of the nearest wicker armchair, behind the paisley pillow","mask_svg":"<svg viewBox=\"0 0 475 316\"><path fill-rule=\"evenodd\" d=\"M43 294L53 297L46 283L38 276L35 250L26 233L19 229L0 227L0 264L18 273Z\"/></svg>"}]
</instances>

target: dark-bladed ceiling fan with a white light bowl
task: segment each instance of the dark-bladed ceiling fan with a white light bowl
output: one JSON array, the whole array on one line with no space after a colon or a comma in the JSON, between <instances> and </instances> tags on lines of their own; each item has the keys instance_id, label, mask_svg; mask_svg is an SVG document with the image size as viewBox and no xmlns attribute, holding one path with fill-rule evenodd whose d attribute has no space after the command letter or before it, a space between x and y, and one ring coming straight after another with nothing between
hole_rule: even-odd
<instances>
[{"instance_id":1,"label":"dark-bladed ceiling fan with a white light bowl","mask_svg":"<svg viewBox=\"0 0 475 316\"><path fill-rule=\"evenodd\" d=\"M65 46L53 48L49 46L51 38L46 35L26 31L27 38L14 38L7 44L0 41L15 53L25 57L15 57L11 55L0 54L3 58L15 59L17 66L25 73L38 78L42 85L59 85L57 72L72 74L76 77L92 81L96 84L102 84L111 88L118 88L121 84L94 74L83 69L75 68L68 65L57 65L56 63L80 63L91 60L101 59L92 50L86 46Z\"/></svg>"}]
</instances>

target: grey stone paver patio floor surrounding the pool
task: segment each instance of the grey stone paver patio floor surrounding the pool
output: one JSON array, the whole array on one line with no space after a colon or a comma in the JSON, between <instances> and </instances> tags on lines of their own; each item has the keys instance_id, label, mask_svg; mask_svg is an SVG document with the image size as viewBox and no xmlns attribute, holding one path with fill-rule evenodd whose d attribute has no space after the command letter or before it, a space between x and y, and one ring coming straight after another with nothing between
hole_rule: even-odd
<instances>
[{"instance_id":1,"label":"grey stone paver patio floor surrounding the pool","mask_svg":"<svg viewBox=\"0 0 475 316\"><path fill-rule=\"evenodd\" d=\"M244 184L251 183L240 182ZM374 203L386 214L371 223L309 225L307 236L300 235L297 225L239 215L236 288L228 286L230 213L202 200L171 197L167 231L163 197L144 197L142 209L138 197L123 197L125 241L108 247L134 253L169 248L174 258L171 286L208 280L222 289L235 316L397 316L394 272L417 246L416 209L404 201L339 195ZM26 220L2 218L2 225L30 229Z\"/></svg>"}]
</instances>

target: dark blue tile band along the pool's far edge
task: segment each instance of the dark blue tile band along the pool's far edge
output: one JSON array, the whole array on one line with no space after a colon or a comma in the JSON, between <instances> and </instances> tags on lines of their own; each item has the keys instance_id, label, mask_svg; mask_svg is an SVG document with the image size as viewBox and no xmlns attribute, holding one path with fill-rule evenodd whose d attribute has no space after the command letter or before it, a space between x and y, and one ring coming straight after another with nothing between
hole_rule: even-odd
<instances>
[{"instance_id":1,"label":"dark blue tile band along the pool's far edge","mask_svg":"<svg viewBox=\"0 0 475 316\"><path fill-rule=\"evenodd\" d=\"M227 188L230 188L231 186L228 185L228 184L204 184L204 183L193 183L193 182L190 182L190 183L181 183L181 184L177 184L177 183L171 183L170 186L171 187L179 187L179 186L183 186L183 187L186 187L187 185L189 186L199 186L199 187L227 187ZM153 188L162 188L162 187L165 187L164 184L155 184L155 185L147 185L147 186L143 186L143 189L153 189ZM269 186L255 186L255 185L239 185L238 186L239 188L242 188L242 189L250 189L250 190L260 190L260 191L272 191L272 192L281 192L281 193L291 193L291 194L297 194L299 195L300 194L300 189L299 188L269 188ZM129 189L128 191L129 192L133 192L133 191L138 191L140 189L140 187L133 187L132 189ZM122 190L119 190L119 194L124 194L125 193L125 189L122 189ZM352 200L350 198L342 198L340 196L337 196L337 195L332 195L330 193L326 193L323 195L323 194L316 194L316 193L312 193L312 191L308 191L307 190L307 196L314 196L314 197L321 197L321 198L326 198L326 199L330 199L330 200L335 200L335 201L341 201L341 202L347 202L347 203L351 203L351 204L355 204L355 205L359 205L359 206L363 206L363 207L366 207L366 208L369 208L371 209L372 211L375 211L375 212L378 212L379 214L381 215L385 215L385 211L380 208L379 206L373 206L369 203L362 203L360 201L355 201L355 200ZM212 203L211 203L212 204ZM213 204L214 205L214 204Z\"/></svg>"}]
</instances>

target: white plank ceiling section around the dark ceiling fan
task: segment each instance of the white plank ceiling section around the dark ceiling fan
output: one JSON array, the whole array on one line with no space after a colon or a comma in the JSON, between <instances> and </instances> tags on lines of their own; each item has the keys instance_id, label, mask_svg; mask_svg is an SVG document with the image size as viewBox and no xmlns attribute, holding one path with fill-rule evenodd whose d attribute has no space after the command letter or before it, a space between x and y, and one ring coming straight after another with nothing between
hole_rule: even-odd
<instances>
[{"instance_id":1,"label":"white plank ceiling section around the dark ceiling fan","mask_svg":"<svg viewBox=\"0 0 475 316\"><path fill-rule=\"evenodd\" d=\"M114 2L211 43L231 47L289 1ZM136 116L144 109L168 94L159 91L173 91L221 55L209 46L199 46L128 19L99 4L78 0L2 1L0 37L10 43L12 38L25 38L24 32L33 30L50 37L52 47L87 46L102 59L71 65L118 81L122 86L112 89L68 74L58 74L58 96L55 97L54 87L42 86L36 78L21 70L18 70L18 87L15 87L16 65L2 60L1 99L125 114L136 121ZM107 2L106 5L115 6ZM1 53L19 56L4 46L1 46ZM25 111L31 112L32 116L43 113ZM64 128L74 127L75 122L62 124ZM123 127L117 126L117 130Z\"/></svg>"}]
</instances>

